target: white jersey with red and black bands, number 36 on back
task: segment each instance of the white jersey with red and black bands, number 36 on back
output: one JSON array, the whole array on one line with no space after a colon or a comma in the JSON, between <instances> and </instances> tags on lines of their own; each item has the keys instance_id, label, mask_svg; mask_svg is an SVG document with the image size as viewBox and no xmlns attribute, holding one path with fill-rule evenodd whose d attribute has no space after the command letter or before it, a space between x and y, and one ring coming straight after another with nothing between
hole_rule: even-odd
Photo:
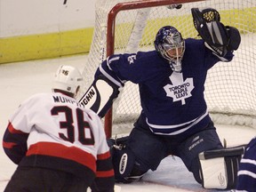
<instances>
[{"instance_id":1,"label":"white jersey with red and black bands, number 36 on back","mask_svg":"<svg viewBox=\"0 0 256 192\"><path fill-rule=\"evenodd\" d=\"M70 172L89 183L114 177L100 117L62 93L25 100L9 120L3 147L19 166Z\"/></svg>"}]
</instances>

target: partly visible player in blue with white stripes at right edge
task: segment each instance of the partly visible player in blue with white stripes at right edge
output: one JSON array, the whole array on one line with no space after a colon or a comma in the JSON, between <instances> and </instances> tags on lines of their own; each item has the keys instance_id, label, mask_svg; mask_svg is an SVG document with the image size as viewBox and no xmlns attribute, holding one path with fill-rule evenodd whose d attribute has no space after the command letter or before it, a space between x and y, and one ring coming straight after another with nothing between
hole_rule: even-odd
<instances>
[{"instance_id":1,"label":"partly visible player in blue with white stripes at right edge","mask_svg":"<svg viewBox=\"0 0 256 192\"><path fill-rule=\"evenodd\" d=\"M256 138L253 138L244 151L238 171L236 192L256 190Z\"/></svg>"}]
</instances>

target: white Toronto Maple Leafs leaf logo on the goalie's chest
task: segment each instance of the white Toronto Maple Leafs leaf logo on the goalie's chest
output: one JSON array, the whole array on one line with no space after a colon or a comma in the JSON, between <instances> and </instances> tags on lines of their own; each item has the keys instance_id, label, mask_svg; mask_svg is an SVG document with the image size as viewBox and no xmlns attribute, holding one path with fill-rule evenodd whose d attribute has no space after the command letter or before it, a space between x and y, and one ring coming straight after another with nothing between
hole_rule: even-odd
<instances>
[{"instance_id":1,"label":"white Toronto Maple Leafs leaf logo on the goalie's chest","mask_svg":"<svg viewBox=\"0 0 256 192\"><path fill-rule=\"evenodd\" d=\"M172 84L166 84L164 91L167 97L172 97L173 102L181 100L181 104L185 105L185 99L191 97L191 92L194 89L193 78L183 79L182 73L173 72L169 76Z\"/></svg>"}]
</instances>

